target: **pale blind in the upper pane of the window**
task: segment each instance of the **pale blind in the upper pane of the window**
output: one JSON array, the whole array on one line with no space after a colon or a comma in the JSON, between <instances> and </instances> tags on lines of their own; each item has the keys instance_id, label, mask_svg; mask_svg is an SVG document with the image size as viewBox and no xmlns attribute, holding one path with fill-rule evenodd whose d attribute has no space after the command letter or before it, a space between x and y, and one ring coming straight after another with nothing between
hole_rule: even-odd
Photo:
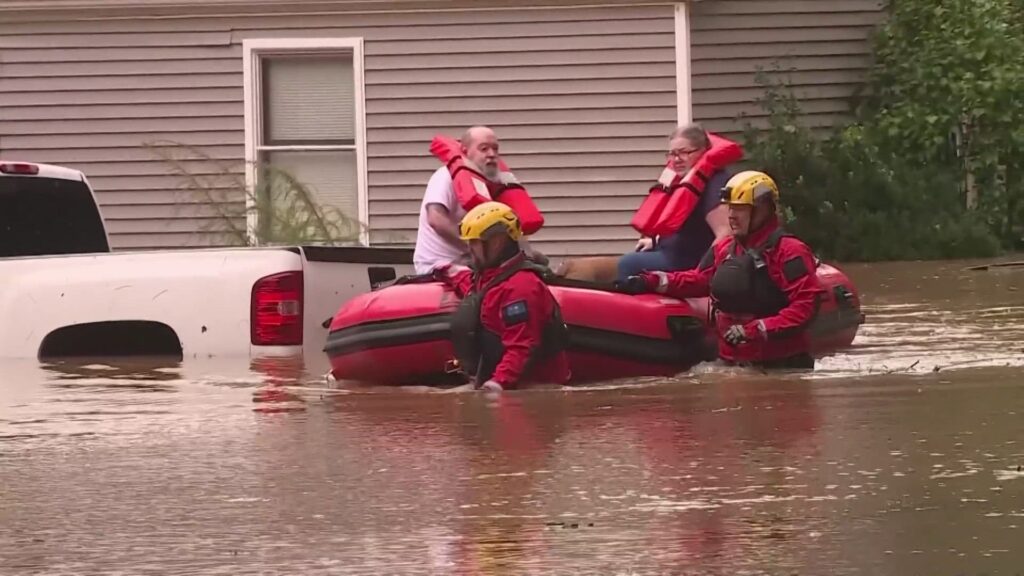
<instances>
[{"instance_id":1,"label":"pale blind in the upper pane of the window","mask_svg":"<svg viewBox=\"0 0 1024 576\"><path fill-rule=\"evenodd\" d=\"M264 145L355 138L351 54L264 59Z\"/></svg>"}]
</instances>

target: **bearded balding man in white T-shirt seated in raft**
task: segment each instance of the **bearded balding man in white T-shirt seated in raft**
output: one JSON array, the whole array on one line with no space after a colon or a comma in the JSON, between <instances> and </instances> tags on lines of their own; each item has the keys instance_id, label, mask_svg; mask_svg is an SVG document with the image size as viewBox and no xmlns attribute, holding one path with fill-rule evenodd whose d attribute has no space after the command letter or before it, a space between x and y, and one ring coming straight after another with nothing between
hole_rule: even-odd
<instances>
[{"instance_id":1,"label":"bearded balding man in white T-shirt seated in raft","mask_svg":"<svg viewBox=\"0 0 1024 576\"><path fill-rule=\"evenodd\" d=\"M486 126L473 126L466 130L460 141L463 155L486 178L498 181L499 143L495 131ZM469 248L459 238L459 220L466 210L459 204L447 166L440 166L427 181L427 189L420 204L420 220L416 232L416 249L413 264L416 274L426 275L442 264L469 263ZM528 241L521 241L530 258L547 263L544 254L530 248Z\"/></svg>"}]
</instances>

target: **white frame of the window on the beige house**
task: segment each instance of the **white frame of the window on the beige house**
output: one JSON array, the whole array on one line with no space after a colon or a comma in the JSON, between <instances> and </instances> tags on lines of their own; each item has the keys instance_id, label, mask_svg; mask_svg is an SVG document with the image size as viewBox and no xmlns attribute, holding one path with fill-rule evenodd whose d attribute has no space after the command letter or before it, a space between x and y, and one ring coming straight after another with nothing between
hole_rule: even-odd
<instances>
[{"instance_id":1,"label":"white frame of the window on the beige house","mask_svg":"<svg viewBox=\"0 0 1024 576\"><path fill-rule=\"evenodd\" d=\"M354 146L260 146L263 134L260 61L263 56L295 56L302 54L351 53L355 96ZM316 150L355 152L355 186L358 197L358 219L361 232L359 244L370 245L370 198L367 187L367 122L366 87L362 60L362 38L250 38L242 41L243 98L245 100L246 138L246 230L251 243L256 240L257 218L252 209L256 189L256 165L260 152Z\"/></svg>"}]
</instances>

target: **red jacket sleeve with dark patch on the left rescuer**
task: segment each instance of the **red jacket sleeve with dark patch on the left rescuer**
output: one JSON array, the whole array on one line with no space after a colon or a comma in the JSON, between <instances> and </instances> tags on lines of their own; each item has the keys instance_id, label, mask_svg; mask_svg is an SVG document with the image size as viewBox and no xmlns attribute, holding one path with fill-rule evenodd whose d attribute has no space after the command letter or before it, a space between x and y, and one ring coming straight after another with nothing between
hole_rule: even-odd
<instances>
[{"instance_id":1,"label":"red jacket sleeve with dark patch on the left rescuer","mask_svg":"<svg viewBox=\"0 0 1024 576\"><path fill-rule=\"evenodd\" d=\"M514 387L526 371L530 355L542 343L550 295L541 279L530 273L516 274L492 290L495 299L487 313L500 325L505 355L490 379L503 387Z\"/></svg>"}]
</instances>

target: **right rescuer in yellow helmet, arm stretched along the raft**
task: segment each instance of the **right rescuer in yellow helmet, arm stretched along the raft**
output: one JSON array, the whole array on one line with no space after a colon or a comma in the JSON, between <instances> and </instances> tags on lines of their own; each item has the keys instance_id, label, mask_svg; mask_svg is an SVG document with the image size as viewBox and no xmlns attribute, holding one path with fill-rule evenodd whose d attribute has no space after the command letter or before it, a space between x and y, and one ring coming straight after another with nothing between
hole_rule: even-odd
<instances>
[{"instance_id":1,"label":"right rescuer in yellow helmet, arm stretched along the raft","mask_svg":"<svg viewBox=\"0 0 1024 576\"><path fill-rule=\"evenodd\" d=\"M731 236L717 240L695 270L645 272L621 288L711 296L719 358L726 364L813 369L808 327L824 290L811 249L781 228L778 198L778 187L764 172L739 172L721 192Z\"/></svg>"}]
</instances>

